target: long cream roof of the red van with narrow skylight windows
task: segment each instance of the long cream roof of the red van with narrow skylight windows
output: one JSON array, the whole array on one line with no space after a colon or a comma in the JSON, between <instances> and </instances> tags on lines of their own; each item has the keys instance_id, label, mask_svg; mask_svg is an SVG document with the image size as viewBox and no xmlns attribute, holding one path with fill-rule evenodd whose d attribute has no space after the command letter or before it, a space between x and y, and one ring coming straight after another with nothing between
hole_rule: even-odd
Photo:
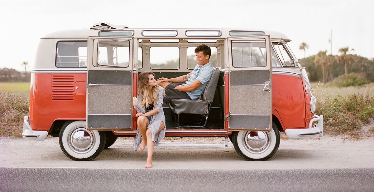
<instances>
[{"instance_id":1,"label":"long cream roof of the red van with narrow skylight windows","mask_svg":"<svg viewBox=\"0 0 374 192\"><path fill-rule=\"evenodd\" d=\"M278 31L271 31L271 30L254 30L254 29L243 29L243 28L125 28L123 30L91 30L91 29L74 29L74 30L62 30L62 31L55 31L49 34L46 34L42 37L42 39L50 39L50 38L68 38L68 39L86 39L88 36L98 36L99 31L133 31L132 37L135 38L161 38L157 35L150 35L150 36L143 36L143 31L176 31L174 36L162 36L162 38L203 38L203 39L210 39L210 38L226 38L231 37L233 31L240 32L254 32L254 33L262 33L262 34L269 34L272 39L283 39L286 42L291 41L285 34L279 33ZM194 32L194 36L188 36L187 31ZM215 35L198 35L201 31L202 33L206 31L220 31L220 36ZM197 35L196 35L197 34ZM206 34L206 33L205 33ZM233 35L233 34L232 34ZM233 35L234 36L234 35Z\"/></svg>"}]
</instances>

